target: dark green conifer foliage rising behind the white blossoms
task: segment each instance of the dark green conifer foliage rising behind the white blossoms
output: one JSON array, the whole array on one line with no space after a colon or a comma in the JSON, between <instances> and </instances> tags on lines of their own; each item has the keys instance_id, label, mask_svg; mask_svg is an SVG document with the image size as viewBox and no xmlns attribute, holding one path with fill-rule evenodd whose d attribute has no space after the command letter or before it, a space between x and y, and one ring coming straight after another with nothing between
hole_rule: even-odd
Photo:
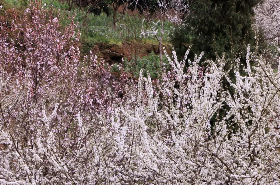
<instances>
[{"instance_id":1,"label":"dark green conifer foliage rising behind the white blossoms","mask_svg":"<svg viewBox=\"0 0 280 185\"><path fill-rule=\"evenodd\" d=\"M205 59L216 54L231 58L241 52L244 59L246 45L254 45L252 29L253 7L261 0L191 0L190 15L185 25L173 37L175 48L192 45L196 54L204 51ZM183 46L183 47L181 47ZM184 51L181 55L184 53Z\"/></svg>"}]
</instances>

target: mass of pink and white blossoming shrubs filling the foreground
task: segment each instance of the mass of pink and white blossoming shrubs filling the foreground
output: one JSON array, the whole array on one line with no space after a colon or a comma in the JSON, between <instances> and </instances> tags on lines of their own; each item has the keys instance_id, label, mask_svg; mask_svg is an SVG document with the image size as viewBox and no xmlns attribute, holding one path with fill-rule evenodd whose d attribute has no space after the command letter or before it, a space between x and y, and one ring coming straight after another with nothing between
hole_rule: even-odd
<instances>
[{"instance_id":1,"label":"mass of pink and white blossoming shrubs filling the foreground","mask_svg":"<svg viewBox=\"0 0 280 185\"><path fill-rule=\"evenodd\" d=\"M279 184L280 67L248 46L236 83L224 58L185 72L175 52L161 81L114 79L74 22L26 12L0 26L0 184Z\"/></svg>"}]
</instances>

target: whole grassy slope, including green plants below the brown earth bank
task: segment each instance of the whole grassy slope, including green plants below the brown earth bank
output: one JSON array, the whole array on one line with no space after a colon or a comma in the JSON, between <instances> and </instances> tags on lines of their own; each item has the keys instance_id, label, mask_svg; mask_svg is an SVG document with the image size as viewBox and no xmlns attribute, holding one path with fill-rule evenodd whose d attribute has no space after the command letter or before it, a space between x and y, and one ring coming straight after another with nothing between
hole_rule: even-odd
<instances>
[{"instance_id":1,"label":"whole grassy slope, including green plants below the brown earth bank","mask_svg":"<svg viewBox=\"0 0 280 185\"><path fill-rule=\"evenodd\" d=\"M99 51L110 50L112 48L108 47L112 45L114 46L113 48L118 48L115 52L124 50L126 47L124 46L124 40L133 46L135 45L135 40L139 41L142 37L141 29L149 29L149 26L143 21L143 18L132 17L129 15L123 16L117 25L114 26L112 16L106 16L104 13L101 15L89 14L87 17L86 29L85 27L82 27L83 17L82 11L79 7L73 7L71 11L68 11L67 3L59 2L57 0L43 0L42 4L46 4L46 8L52 7L54 13L58 13L58 10L60 9L60 16L65 18L61 19L62 27L70 23L67 18L68 16L72 17L75 15L75 20L79 22L79 29L82 33L80 38L80 51L82 52L82 55L88 55L89 50L92 50L96 46L101 48ZM0 6L1 5L3 6L2 11L14 8L18 14L21 15L28 7L28 0L0 0ZM118 16L120 17L121 15L118 14ZM154 20L154 22L157 22L157 20ZM155 25L155 27L160 30L159 23ZM167 46L170 44L169 35L173 30L172 24L167 21L164 22L164 29L167 31L163 36L163 44ZM160 31L158 31L158 36L159 34ZM139 55L141 59L136 61L136 64L128 59L125 59L122 64L125 70L130 71L135 77L138 77L141 68L144 68L144 73L149 71L152 77L158 76L159 56L155 55L152 50L147 52L146 49L148 47L158 47L158 41L154 36L142 39L142 51ZM119 64L114 64L113 71L118 72L118 65Z\"/></svg>"}]
</instances>

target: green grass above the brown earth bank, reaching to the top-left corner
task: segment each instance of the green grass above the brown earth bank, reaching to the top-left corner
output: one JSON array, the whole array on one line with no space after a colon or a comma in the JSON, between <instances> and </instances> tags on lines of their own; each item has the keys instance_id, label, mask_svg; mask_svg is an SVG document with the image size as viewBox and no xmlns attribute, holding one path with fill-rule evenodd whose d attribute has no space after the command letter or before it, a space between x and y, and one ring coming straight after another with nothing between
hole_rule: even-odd
<instances>
[{"instance_id":1,"label":"green grass above the brown earth bank, reaching to the top-left corner","mask_svg":"<svg viewBox=\"0 0 280 185\"><path fill-rule=\"evenodd\" d=\"M107 0L108 3L111 0ZM107 3L107 1L104 1ZM26 4L27 3L27 4ZM3 10L9 8L17 8L20 9L21 12L24 12L25 9L28 7L28 0L0 0L0 5L3 5ZM80 43L82 44L81 51L82 54L88 54L89 50L95 45L101 44L117 44L121 46L124 43L123 39L130 38L127 41L129 44L133 45L134 37L131 36L132 32L129 31L130 27L137 28L135 29L137 37L141 36L141 29L149 29L148 23L143 22L143 19L136 16L124 15L117 13L117 18L121 18L117 25L113 25L113 17L112 14L107 12L94 12L89 13L86 18L86 25L87 27L83 27L83 14L85 15L85 11L82 12L81 8L78 6L74 6L71 11L68 11L68 4L66 2L61 2L58 0L42 0L42 5L46 4L45 8L53 8L54 14L58 13L58 9L60 9L60 24L61 30L65 28L68 24L70 24L70 20L68 17L73 17L75 15L75 22L79 22L79 27L77 29L81 30L81 37ZM1 13L1 12L0 12ZM153 20L155 23L158 20ZM161 25L158 23L158 29L160 30ZM163 35L163 43L167 44L170 43L170 36L169 34L173 31L172 23L168 21L164 21L164 30L166 33ZM160 34L160 32L158 32ZM142 40L142 44L158 44L156 38L151 35L150 37L145 37Z\"/></svg>"}]
</instances>

